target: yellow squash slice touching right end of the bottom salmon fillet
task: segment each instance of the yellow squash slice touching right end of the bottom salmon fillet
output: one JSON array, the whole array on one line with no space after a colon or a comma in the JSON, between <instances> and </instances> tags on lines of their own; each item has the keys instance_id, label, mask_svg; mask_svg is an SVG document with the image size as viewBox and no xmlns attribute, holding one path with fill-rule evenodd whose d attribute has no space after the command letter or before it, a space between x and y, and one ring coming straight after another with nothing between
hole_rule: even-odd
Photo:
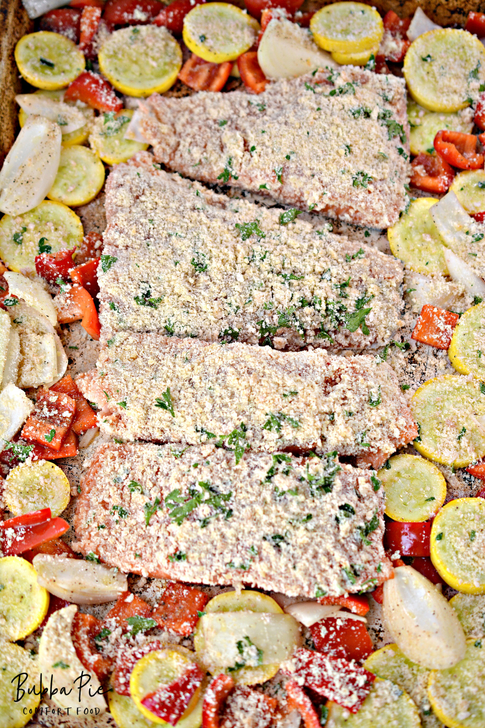
<instances>
[{"instance_id":1,"label":"yellow squash slice touching right end of the bottom salmon fillet","mask_svg":"<svg viewBox=\"0 0 485 728\"><path fill-rule=\"evenodd\" d=\"M385 491L385 513L393 521L428 521L444 504L446 480L419 455L396 455L377 474Z\"/></svg>"}]
</instances>

